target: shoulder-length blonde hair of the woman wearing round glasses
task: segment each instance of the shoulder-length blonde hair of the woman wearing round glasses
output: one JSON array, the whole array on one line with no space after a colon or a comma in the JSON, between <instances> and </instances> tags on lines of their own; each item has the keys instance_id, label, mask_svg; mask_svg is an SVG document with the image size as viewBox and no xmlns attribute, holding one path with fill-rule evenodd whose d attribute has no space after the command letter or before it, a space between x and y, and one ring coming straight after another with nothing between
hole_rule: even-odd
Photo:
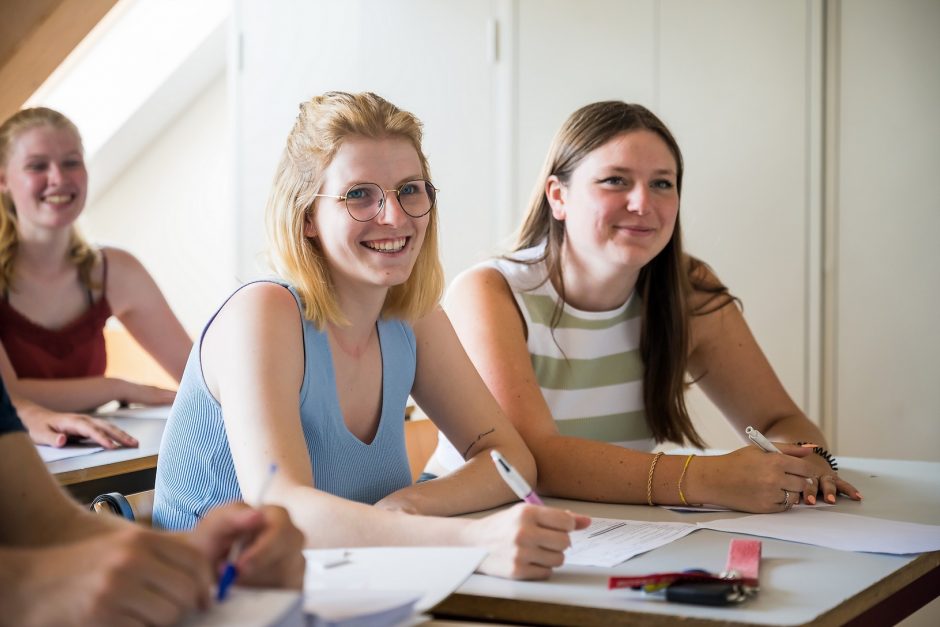
<instances>
[{"instance_id":1,"label":"shoulder-length blonde hair of the woman wearing round glasses","mask_svg":"<svg viewBox=\"0 0 940 627\"><path fill-rule=\"evenodd\" d=\"M318 328L345 324L346 316L333 296L326 257L314 238L304 235L305 219L316 209L315 194L343 142L351 136L400 137L414 146L422 176L430 179L421 150L421 122L373 93L331 91L300 105L287 137L265 209L268 260L274 271L293 285L304 305L304 316ZM383 317L414 321L440 301L444 287L437 245L437 209L429 214L424 244L408 280L389 289Z\"/></svg>"}]
</instances>

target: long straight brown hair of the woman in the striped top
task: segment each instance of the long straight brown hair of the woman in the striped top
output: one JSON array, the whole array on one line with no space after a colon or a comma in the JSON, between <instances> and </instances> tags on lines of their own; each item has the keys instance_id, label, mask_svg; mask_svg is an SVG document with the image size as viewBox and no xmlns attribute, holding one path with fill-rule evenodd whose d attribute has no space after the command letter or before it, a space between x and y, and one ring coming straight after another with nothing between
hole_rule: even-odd
<instances>
[{"instance_id":1,"label":"long straight brown hair of the woman in the striped top","mask_svg":"<svg viewBox=\"0 0 940 627\"><path fill-rule=\"evenodd\" d=\"M682 152L672 133L656 115L638 104L595 102L575 111L555 135L529 200L519 232L519 251L545 242L545 251L530 263L544 261L548 280L558 287L551 326L557 326L565 299L561 250L565 223L556 220L545 196L545 182L554 175L567 184L571 173L592 151L623 133L647 130L656 133L676 160L676 189L682 194ZM510 257L511 259L511 257ZM714 279L707 266L683 253L679 215L666 247L640 270L636 284L643 303L640 355L643 359L643 402L646 420L657 442L688 440L703 447L685 404L689 353L689 316L710 313L736 300ZM702 306L690 311L691 292L708 294Z\"/></svg>"}]
</instances>

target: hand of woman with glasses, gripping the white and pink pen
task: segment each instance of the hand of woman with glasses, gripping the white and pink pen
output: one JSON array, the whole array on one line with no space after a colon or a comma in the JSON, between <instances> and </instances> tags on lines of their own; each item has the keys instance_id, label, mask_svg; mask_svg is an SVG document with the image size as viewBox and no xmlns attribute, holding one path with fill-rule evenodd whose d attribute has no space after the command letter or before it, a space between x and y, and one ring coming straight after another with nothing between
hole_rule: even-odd
<instances>
[{"instance_id":1,"label":"hand of woman with glasses, gripping the white and pink pen","mask_svg":"<svg viewBox=\"0 0 940 627\"><path fill-rule=\"evenodd\" d=\"M547 579L565 561L570 532L591 519L568 511L519 503L470 521L470 543L488 549L479 571L510 579Z\"/></svg>"}]
</instances>

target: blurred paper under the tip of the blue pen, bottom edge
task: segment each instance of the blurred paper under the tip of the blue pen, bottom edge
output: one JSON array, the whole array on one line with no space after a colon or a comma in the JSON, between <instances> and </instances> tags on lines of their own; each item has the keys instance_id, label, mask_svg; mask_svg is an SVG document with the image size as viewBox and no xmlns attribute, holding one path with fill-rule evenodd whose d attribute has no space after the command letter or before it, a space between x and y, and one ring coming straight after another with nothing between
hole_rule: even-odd
<instances>
[{"instance_id":1,"label":"blurred paper under the tip of the blue pen, bottom edge","mask_svg":"<svg viewBox=\"0 0 940 627\"><path fill-rule=\"evenodd\" d=\"M296 590L230 589L226 599L191 614L181 627L306 627L303 597Z\"/></svg>"}]
</instances>

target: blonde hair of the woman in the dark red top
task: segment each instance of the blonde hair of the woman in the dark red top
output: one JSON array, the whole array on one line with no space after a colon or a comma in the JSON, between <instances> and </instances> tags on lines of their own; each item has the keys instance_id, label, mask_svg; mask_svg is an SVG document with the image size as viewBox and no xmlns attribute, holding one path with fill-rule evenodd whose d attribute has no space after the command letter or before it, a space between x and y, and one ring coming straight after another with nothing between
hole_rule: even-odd
<instances>
[{"instance_id":1,"label":"blonde hair of the woman in the dark red top","mask_svg":"<svg viewBox=\"0 0 940 627\"><path fill-rule=\"evenodd\" d=\"M16 140L31 129L48 126L66 130L75 135L79 148L82 136L78 128L67 117L46 107L21 109L0 124L0 168L6 170ZM16 207L9 194L0 193L0 293L13 286L16 272L16 252L19 248ZM73 225L69 232L68 259L78 268L78 278L88 289L96 288L91 280L91 271L98 260L98 251L92 248Z\"/></svg>"}]
</instances>

